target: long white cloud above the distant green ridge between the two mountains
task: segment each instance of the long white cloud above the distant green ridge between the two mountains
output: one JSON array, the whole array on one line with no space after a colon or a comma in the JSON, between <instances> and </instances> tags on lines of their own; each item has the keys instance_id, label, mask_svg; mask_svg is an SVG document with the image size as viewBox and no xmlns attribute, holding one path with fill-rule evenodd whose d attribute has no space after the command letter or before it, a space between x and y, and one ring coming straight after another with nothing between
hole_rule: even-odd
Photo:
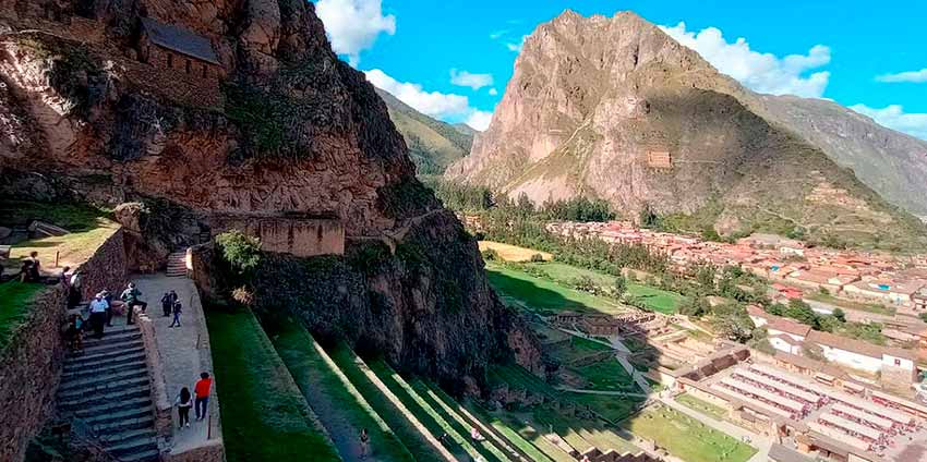
<instances>
[{"instance_id":1,"label":"long white cloud above the distant green ridge between the two mountains","mask_svg":"<svg viewBox=\"0 0 927 462\"><path fill-rule=\"evenodd\" d=\"M400 101L433 118L448 122L464 121L479 131L486 130L492 120L492 112L470 107L470 100L466 96L426 92L419 84L399 82L378 69L364 71L364 74L374 86L389 92Z\"/></svg>"}]
</instances>

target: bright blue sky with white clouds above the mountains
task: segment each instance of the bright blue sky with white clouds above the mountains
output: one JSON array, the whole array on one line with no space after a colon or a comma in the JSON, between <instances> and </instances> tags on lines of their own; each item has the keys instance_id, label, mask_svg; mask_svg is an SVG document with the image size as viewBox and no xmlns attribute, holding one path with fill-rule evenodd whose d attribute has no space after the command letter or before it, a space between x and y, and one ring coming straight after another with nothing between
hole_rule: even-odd
<instances>
[{"instance_id":1,"label":"bright blue sky with white clouds above the mountains","mask_svg":"<svg viewBox=\"0 0 927 462\"><path fill-rule=\"evenodd\" d=\"M587 16L635 11L748 87L830 98L927 138L924 1L316 0L316 7L336 51L374 84L423 112L478 129L503 96L521 37L569 8Z\"/></svg>"}]
</instances>

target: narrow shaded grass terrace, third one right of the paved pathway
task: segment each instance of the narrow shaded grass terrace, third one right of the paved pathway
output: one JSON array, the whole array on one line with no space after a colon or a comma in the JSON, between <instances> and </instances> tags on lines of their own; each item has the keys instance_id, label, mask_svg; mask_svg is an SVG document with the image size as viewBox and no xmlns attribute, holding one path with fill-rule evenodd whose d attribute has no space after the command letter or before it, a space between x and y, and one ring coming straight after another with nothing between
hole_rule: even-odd
<instances>
[{"instance_id":1,"label":"narrow shaded grass terrace, third one right of the paved pathway","mask_svg":"<svg viewBox=\"0 0 927 462\"><path fill-rule=\"evenodd\" d=\"M406 445L417 461L436 462L444 459L435 448L429 443L426 436L417 428L410 420L406 418L400 410L394 404L388 397L366 377L361 369L358 358L354 353L345 345L337 345L327 349L328 355L338 365L342 373L351 380L351 384L358 388L370 405L380 414L381 417L396 433L396 436ZM381 377L381 380L384 378ZM411 410L410 410L411 411ZM418 415L417 415L418 418ZM432 436L440 436L432 435ZM458 448L459 449L459 448ZM452 452L455 452L450 449ZM462 451L459 451L462 452Z\"/></svg>"}]
</instances>

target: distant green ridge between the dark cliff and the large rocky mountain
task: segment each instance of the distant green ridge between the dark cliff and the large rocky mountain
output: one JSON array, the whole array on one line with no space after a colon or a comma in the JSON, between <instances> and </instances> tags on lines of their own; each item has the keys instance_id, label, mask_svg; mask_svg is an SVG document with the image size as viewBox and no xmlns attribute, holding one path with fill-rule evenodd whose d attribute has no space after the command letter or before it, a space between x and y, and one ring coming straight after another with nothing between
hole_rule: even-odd
<instances>
[{"instance_id":1,"label":"distant green ridge between the dark cliff and the large rocky mountain","mask_svg":"<svg viewBox=\"0 0 927 462\"><path fill-rule=\"evenodd\" d=\"M389 119L406 141L419 174L444 173L447 166L470 154L473 129L428 117L384 89L376 88L376 93L386 102Z\"/></svg>"}]
</instances>

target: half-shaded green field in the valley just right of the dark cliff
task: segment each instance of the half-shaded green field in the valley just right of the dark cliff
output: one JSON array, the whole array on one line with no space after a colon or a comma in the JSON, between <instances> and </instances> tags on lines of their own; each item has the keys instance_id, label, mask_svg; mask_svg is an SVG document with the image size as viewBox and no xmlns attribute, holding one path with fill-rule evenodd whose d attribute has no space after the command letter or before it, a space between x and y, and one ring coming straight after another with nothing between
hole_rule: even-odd
<instances>
[{"instance_id":1,"label":"half-shaded green field in the valley just right of the dark cliff","mask_svg":"<svg viewBox=\"0 0 927 462\"><path fill-rule=\"evenodd\" d=\"M486 276L493 288L532 311L618 314L627 312L615 301L535 278L527 272L489 263Z\"/></svg>"}]
</instances>

